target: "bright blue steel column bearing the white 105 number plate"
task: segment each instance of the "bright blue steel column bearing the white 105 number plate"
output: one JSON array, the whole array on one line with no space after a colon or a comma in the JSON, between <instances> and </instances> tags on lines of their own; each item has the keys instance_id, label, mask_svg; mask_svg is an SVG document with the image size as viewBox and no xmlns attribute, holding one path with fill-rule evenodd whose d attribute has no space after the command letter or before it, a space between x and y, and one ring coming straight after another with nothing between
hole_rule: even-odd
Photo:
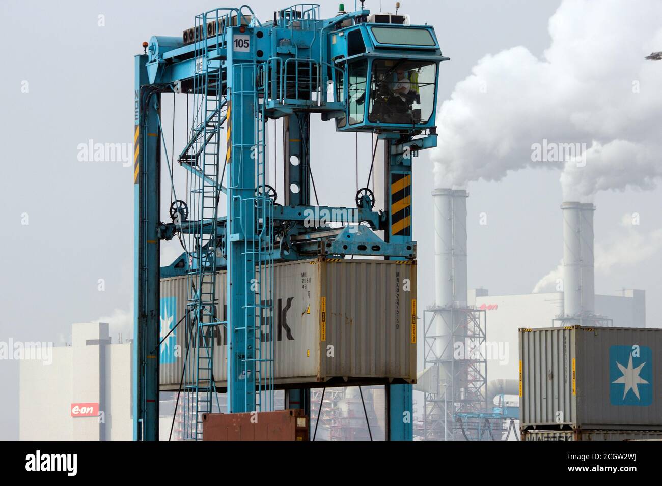
<instances>
[{"instance_id":1,"label":"bright blue steel column bearing the white 105 number plate","mask_svg":"<svg viewBox=\"0 0 662 486\"><path fill-rule=\"evenodd\" d=\"M228 60L226 61L228 91L227 159L227 228L228 228L228 412L251 412L256 408L255 390L246 382L255 370L253 338L255 307L248 300L255 298L252 280L255 263L246 245L255 240L254 198L256 193L256 70L252 52L234 52L232 40L238 28L226 30ZM248 35L248 32L243 35ZM254 50L251 38L250 50ZM242 64L243 63L243 64ZM248 346L246 345L248 343Z\"/></svg>"}]
</instances>

